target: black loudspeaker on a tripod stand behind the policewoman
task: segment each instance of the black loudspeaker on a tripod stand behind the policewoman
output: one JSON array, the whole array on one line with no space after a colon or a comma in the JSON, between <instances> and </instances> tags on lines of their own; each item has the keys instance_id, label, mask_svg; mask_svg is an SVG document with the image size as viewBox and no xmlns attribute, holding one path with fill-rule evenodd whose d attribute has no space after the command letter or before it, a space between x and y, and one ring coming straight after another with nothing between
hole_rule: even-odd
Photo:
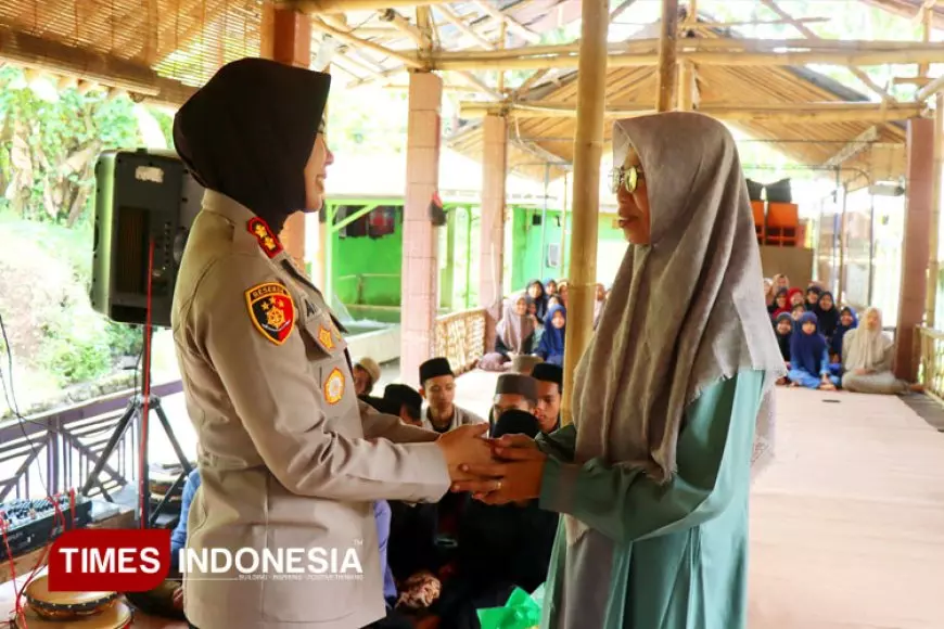
<instances>
[{"instance_id":1,"label":"black loudspeaker on a tripod stand behind the policewoman","mask_svg":"<svg viewBox=\"0 0 944 629\"><path fill-rule=\"evenodd\" d=\"M203 187L171 151L106 151L95 164L92 308L118 323L148 314L151 242L151 323L170 325L170 305L187 234Z\"/></svg>"}]
</instances>

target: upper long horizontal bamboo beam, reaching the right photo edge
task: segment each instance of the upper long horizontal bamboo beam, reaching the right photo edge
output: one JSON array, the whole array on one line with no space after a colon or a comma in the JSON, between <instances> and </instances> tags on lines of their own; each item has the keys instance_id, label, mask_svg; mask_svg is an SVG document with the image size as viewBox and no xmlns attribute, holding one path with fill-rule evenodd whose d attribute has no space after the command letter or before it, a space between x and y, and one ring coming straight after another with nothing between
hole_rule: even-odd
<instances>
[{"instance_id":1,"label":"upper long horizontal bamboo beam, reaching the right photo edge","mask_svg":"<svg viewBox=\"0 0 944 629\"><path fill-rule=\"evenodd\" d=\"M512 51L514 56L506 59L481 59L474 53L465 57L444 60L433 55L433 69L540 69L547 67L575 68L579 59L576 54L554 54L546 56L530 56L524 51ZM944 46L929 46L921 49L884 50L846 52L834 50L811 50L796 52L750 52L750 51L689 51L679 50L677 57L702 65L723 66L800 66L807 64L825 64L840 66L886 65L908 63L944 63ZM413 64L419 63L412 59ZM610 67L651 66L659 63L655 52L610 54L607 64Z\"/></svg>"}]
</instances>

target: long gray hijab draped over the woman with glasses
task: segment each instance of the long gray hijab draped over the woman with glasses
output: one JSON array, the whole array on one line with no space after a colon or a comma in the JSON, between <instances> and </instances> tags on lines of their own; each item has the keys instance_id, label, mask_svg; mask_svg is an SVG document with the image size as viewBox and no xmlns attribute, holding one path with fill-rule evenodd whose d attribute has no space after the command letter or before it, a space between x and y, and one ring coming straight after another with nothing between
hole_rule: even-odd
<instances>
[{"instance_id":1,"label":"long gray hijab draped over the woman with glasses","mask_svg":"<svg viewBox=\"0 0 944 629\"><path fill-rule=\"evenodd\" d=\"M630 245L577 367L577 460L676 471L686 407L742 370L783 373L735 140L718 121L673 112L618 120L613 164L639 155L652 244ZM599 343L598 343L599 341ZM754 462L773 452L770 388Z\"/></svg>"}]
</instances>

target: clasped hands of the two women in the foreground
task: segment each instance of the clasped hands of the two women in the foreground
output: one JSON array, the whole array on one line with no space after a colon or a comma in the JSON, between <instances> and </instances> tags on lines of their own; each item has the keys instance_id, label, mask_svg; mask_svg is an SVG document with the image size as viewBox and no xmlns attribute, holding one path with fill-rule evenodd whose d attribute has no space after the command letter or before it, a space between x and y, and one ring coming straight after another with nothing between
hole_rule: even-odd
<instances>
[{"instance_id":1,"label":"clasped hands of the two women in the foreground","mask_svg":"<svg viewBox=\"0 0 944 629\"><path fill-rule=\"evenodd\" d=\"M471 424L436 440L449 466L450 490L470 491L488 504L538 498L547 454L526 435L489 439L487 432L488 424Z\"/></svg>"}]
</instances>

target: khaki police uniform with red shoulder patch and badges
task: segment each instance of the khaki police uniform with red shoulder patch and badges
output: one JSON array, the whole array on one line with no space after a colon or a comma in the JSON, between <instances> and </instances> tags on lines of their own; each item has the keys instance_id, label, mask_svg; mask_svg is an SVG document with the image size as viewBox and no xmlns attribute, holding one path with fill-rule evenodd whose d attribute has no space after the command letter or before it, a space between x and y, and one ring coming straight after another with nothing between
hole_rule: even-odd
<instances>
[{"instance_id":1,"label":"khaki police uniform with red shoulder patch and badges","mask_svg":"<svg viewBox=\"0 0 944 629\"><path fill-rule=\"evenodd\" d=\"M203 480L188 548L324 549L329 561L334 549L339 568L353 548L362 568L337 580L194 575L184 581L190 621L352 629L383 617L372 501L446 492L437 435L359 402L321 294L264 221L217 192L206 192L188 239L173 329Z\"/></svg>"}]
</instances>

